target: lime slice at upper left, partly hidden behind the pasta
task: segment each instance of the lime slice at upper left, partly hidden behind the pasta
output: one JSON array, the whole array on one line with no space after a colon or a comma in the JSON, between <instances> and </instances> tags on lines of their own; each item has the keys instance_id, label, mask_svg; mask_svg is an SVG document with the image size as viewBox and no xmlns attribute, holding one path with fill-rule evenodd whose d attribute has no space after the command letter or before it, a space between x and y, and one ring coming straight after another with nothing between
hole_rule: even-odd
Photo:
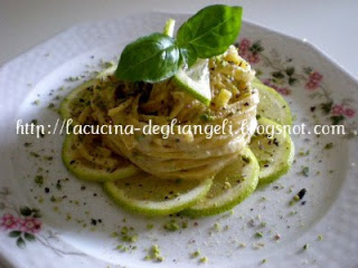
<instances>
[{"instance_id":1,"label":"lime slice at upper left, partly hidden behind the pasta","mask_svg":"<svg viewBox=\"0 0 358 268\"><path fill-rule=\"evenodd\" d=\"M59 113L63 120L71 118L73 124L78 125L78 118L84 109L90 109L93 97L93 86L97 79L106 79L107 75L112 75L116 66L111 66L101 71L95 79L84 82L73 89L61 102Z\"/></svg>"}]
</instances>

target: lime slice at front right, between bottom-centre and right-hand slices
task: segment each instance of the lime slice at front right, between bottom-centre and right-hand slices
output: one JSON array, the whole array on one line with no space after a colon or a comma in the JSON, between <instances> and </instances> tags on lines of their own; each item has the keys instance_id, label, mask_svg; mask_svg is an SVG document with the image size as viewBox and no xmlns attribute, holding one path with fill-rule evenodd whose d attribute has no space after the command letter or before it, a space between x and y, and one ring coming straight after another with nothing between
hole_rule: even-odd
<instances>
[{"instance_id":1,"label":"lime slice at front right, between bottom-centre and right-hand slices","mask_svg":"<svg viewBox=\"0 0 358 268\"><path fill-rule=\"evenodd\" d=\"M246 148L213 179L207 195L194 206L183 210L192 217L222 213L251 195L258 182L259 167L251 150Z\"/></svg>"}]
</instances>

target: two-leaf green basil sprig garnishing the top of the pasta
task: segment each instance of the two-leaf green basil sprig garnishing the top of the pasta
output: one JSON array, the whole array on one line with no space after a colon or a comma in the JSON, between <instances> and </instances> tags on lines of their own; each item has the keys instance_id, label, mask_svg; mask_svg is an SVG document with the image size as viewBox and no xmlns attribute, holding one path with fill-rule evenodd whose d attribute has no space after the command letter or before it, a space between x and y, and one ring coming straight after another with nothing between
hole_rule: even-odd
<instances>
[{"instance_id":1,"label":"two-leaf green basil sprig garnishing the top of the pasta","mask_svg":"<svg viewBox=\"0 0 358 268\"><path fill-rule=\"evenodd\" d=\"M127 81L155 83L173 76L183 61L224 53L241 29L240 6L212 5L180 26L176 40L154 33L128 44L122 51L115 76Z\"/></svg>"}]
</instances>

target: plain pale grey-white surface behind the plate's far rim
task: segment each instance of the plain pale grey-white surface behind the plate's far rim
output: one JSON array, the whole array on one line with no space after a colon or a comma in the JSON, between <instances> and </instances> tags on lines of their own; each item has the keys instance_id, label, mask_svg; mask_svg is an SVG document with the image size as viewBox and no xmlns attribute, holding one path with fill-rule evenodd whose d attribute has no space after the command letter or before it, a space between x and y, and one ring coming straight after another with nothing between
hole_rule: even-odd
<instances>
[{"instance_id":1,"label":"plain pale grey-white surface behind the plate's far rim","mask_svg":"<svg viewBox=\"0 0 358 268\"><path fill-rule=\"evenodd\" d=\"M0 65L73 24L139 11L195 12L202 0L0 0ZM244 18L306 38L358 76L358 0L243 0Z\"/></svg>"}]
</instances>

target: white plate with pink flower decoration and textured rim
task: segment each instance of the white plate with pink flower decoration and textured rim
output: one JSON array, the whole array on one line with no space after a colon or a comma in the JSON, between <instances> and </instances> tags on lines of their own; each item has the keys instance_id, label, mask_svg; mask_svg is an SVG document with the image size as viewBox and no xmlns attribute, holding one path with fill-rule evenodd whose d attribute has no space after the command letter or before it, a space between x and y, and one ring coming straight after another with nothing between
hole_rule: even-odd
<instances>
[{"instance_id":1,"label":"white plate with pink flower decoration and textured rim","mask_svg":"<svg viewBox=\"0 0 358 268\"><path fill-rule=\"evenodd\" d=\"M295 124L305 123L307 129L313 131L314 124L331 124L335 116L333 119L339 119L353 138L349 139L348 135L293 136L296 151L303 149L310 153L296 154L296 163L287 175L257 190L233 210L233 215L189 220L188 228L168 232L163 229L163 223L169 217L149 219L131 215L113 205L97 184L82 182L70 175L61 162L63 136L46 134L37 139L35 135L15 134L17 119L24 123L37 119L39 124L51 125L53 129L59 116L47 106L53 102L58 107L59 100L55 96L62 98L70 88L88 79L91 74L84 71L98 70L102 58L113 60L128 41L161 31L170 17L177 19L180 25L188 15L148 13L81 24L0 69L2 261L15 267L153 267L153 262L143 260L145 248L158 244L165 257L163 263L155 264L160 267L199 265L198 258L190 258L190 253L197 249L201 256L209 258L205 267L252 267L260 265L263 259L267 259L268 267L352 267L357 264L358 173L353 166L358 159L356 132L354 136L358 82L307 41L247 22L243 23L240 37L242 53L261 73L260 78L275 85L290 102ZM246 41L242 41L243 38ZM253 55L252 50L258 51L257 54ZM272 72L282 79L273 81ZM86 78L65 81L70 76L81 75ZM59 90L62 85L63 91ZM39 100L39 105L33 105L34 100ZM328 107L328 115L323 114L321 103ZM311 107L315 107L315 111L311 111L314 109ZM25 142L32 144L25 147ZM333 148L324 149L330 142ZM45 159L48 156L53 160ZM308 177L300 174L304 166L309 167ZM39 167L43 170L39 171ZM39 174L44 177L42 187L34 182ZM61 190L56 188L58 180L61 180ZM81 190L82 185L86 186L85 190ZM49 193L45 193L45 187L49 187ZM302 188L307 189L303 199L306 204L289 206L289 201ZM67 197L53 203L52 195ZM42 217L34 220L32 216L21 215L23 206L38 208ZM297 214L290 215L293 211ZM23 214L26 215L26 209ZM91 219L97 220L96 226L91 225ZM182 222L180 218L177 220ZM266 222L265 228L260 227L261 222ZM153 223L154 228L148 230L147 223ZM222 227L218 232L213 230L215 223ZM38 230L31 224L38 225ZM115 249L122 243L110 234L119 232L119 227L124 225L134 227L138 234L138 241L134 243L136 250ZM35 240L25 238L25 244L21 243L18 237L9 237L11 232L14 236L18 234L14 230L20 230L21 237L28 232L30 235L26 237ZM263 232L263 238L255 238L256 232ZM276 234L281 237L279 242L275 242ZM319 235L323 236L322 240L318 239ZM309 248L303 250L306 243Z\"/></svg>"}]
</instances>

